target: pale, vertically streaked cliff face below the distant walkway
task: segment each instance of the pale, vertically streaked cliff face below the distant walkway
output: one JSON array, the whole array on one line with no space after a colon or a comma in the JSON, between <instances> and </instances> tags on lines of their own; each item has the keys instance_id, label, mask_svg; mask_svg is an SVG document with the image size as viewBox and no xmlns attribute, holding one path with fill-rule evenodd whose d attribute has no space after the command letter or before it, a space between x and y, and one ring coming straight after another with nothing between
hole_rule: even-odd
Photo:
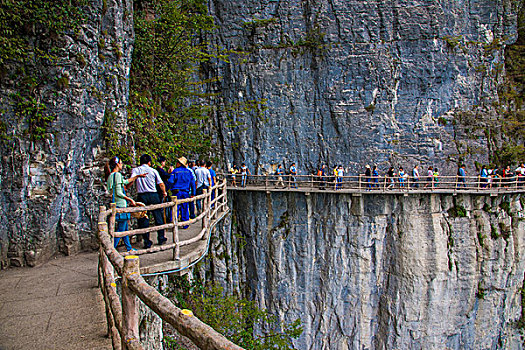
<instances>
[{"instance_id":1,"label":"pale, vertically streaked cliff face below the distant walkway","mask_svg":"<svg viewBox=\"0 0 525 350\"><path fill-rule=\"evenodd\" d=\"M522 348L520 197L229 194L208 268L298 349Z\"/></svg>"}]
</instances>

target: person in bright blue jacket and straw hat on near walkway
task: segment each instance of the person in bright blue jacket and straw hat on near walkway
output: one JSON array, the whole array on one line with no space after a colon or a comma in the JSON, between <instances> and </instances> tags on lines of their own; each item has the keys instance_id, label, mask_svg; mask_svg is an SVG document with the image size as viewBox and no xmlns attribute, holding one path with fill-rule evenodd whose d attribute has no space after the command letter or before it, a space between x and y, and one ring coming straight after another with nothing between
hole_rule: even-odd
<instances>
[{"instance_id":1,"label":"person in bright blue jacket and straw hat on near walkway","mask_svg":"<svg viewBox=\"0 0 525 350\"><path fill-rule=\"evenodd\" d=\"M186 167L188 161L185 157L177 159L177 167L171 172L167 185L171 193L177 199L186 199L193 197L191 193L195 193L195 180L191 170ZM190 192L191 191L191 192ZM182 203L178 205L178 214L181 221L188 221L190 219L189 203ZM183 226L183 229L188 228L189 225Z\"/></svg>"}]
</instances>

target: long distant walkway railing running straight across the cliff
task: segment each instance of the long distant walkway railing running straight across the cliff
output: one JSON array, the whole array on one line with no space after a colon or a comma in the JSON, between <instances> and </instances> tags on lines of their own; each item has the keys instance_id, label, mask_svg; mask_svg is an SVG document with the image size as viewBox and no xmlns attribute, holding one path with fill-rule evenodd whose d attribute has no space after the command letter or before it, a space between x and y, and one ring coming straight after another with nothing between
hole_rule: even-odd
<instances>
[{"instance_id":1,"label":"long distant walkway railing running straight across the cliff","mask_svg":"<svg viewBox=\"0 0 525 350\"><path fill-rule=\"evenodd\" d=\"M482 178L480 176L387 177L387 176L316 176L316 175L231 175L229 189L380 192L525 192L525 176Z\"/></svg>"}]
</instances>

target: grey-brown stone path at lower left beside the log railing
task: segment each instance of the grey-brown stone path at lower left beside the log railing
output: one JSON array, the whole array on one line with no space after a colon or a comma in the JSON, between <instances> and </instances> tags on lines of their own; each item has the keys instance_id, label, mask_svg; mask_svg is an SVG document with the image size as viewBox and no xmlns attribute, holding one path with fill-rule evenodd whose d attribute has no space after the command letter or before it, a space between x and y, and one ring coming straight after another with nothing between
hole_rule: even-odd
<instances>
[{"instance_id":1,"label":"grey-brown stone path at lower left beside the log railing","mask_svg":"<svg viewBox=\"0 0 525 350\"><path fill-rule=\"evenodd\" d=\"M0 350L111 349L97 253L0 271Z\"/></svg>"}]
</instances>

